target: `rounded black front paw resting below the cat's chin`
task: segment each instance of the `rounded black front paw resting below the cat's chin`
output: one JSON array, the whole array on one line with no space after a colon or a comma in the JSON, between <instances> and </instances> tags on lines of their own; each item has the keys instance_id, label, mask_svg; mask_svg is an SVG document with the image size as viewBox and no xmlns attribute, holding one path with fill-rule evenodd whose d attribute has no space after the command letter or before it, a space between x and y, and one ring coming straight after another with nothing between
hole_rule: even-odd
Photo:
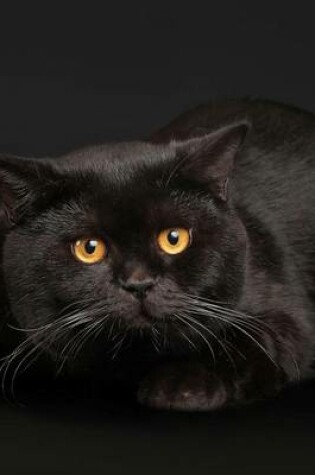
<instances>
[{"instance_id":1,"label":"rounded black front paw resting below the cat's chin","mask_svg":"<svg viewBox=\"0 0 315 475\"><path fill-rule=\"evenodd\" d=\"M226 404L228 392L205 366L173 363L150 373L140 384L138 401L157 409L209 411Z\"/></svg>"}]
</instances>

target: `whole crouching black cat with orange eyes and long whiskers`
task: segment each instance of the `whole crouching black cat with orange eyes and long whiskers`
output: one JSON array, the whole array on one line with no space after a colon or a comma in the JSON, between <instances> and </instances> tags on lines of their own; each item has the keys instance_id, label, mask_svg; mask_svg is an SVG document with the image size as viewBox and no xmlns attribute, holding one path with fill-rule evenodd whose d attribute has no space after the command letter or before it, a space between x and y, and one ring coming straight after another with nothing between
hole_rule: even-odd
<instances>
[{"instance_id":1,"label":"whole crouching black cat with orange eyes and long whiskers","mask_svg":"<svg viewBox=\"0 0 315 475\"><path fill-rule=\"evenodd\" d=\"M158 408L312 375L312 114L227 101L146 142L0 170L4 392L42 354Z\"/></svg>"}]
</instances>

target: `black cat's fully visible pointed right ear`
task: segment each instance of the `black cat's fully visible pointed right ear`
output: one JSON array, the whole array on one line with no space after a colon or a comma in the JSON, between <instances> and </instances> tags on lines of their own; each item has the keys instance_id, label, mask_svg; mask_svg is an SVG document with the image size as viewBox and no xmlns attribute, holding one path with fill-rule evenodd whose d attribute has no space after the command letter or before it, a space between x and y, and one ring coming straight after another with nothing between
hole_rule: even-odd
<instances>
[{"instance_id":1,"label":"black cat's fully visible pointed right ear","mask_svg":"<svg viewBox=\"0 0 315 475\"><path fill-rule=\"evenodd\" d=\"M175 174L208 187L218 199L226 201L228 178L249 126L242 121L202 137L173 142L178 157Z\"/></svg>"}]
</instances>

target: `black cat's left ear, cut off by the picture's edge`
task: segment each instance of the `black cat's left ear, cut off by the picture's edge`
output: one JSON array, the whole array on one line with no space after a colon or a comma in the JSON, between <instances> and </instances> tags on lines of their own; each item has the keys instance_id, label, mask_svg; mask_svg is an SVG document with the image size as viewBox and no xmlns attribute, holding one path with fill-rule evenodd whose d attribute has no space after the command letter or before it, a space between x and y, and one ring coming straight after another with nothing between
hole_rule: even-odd
<instances>
[{"instance_id":1,"label":"black cat's left ear, cut off by the picture's edge","mask_svg":"<svg viewBox=\"0 0 315 475\"><path fill-rule=\"evenodd\" d=\"M48 172L39 159L0 156L0 230L14 226L41 197Z\"/></svg>"}]
</instances>

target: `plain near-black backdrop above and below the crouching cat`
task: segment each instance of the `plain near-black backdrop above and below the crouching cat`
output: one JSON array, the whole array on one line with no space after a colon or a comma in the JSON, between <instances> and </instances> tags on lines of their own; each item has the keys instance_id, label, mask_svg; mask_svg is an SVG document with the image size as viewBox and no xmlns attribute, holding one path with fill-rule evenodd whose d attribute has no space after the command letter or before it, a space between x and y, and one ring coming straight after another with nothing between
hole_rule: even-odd
<instances>
[{"instance_id":1,"label":"plain near-black backdrop above and below the crouching cat","mask_svg":"<svg viewBox=\"0 0 315 475\"><path fill-rule=\"evenodd\" d=\"M315 112L312 2L1 5L0 150L138 139L223 96ZM97 399L0 405L3 474L311 474L315 385L215 414Z\"/></svg>"}]
</instances>

